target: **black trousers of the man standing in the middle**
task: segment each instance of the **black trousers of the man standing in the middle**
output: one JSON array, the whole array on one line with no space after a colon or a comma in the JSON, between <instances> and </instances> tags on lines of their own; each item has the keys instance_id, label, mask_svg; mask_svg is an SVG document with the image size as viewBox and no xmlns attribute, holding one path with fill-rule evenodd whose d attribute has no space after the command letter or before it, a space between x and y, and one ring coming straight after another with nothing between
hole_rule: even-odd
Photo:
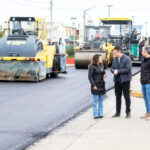
<instances>
[{"instance_id":1,"label":"black trousers of the man standing in the middle","mask_svg":"<svg viewBox=\"0 0 150 150\"><path fill-rule=\"evenodd\" d=\"M121 97L124 94L126 102L126 113L130 113L130 82L115 82L115 94L116 94L116 112L120 114L121 111Z\"/></svg>"}]
</instances>

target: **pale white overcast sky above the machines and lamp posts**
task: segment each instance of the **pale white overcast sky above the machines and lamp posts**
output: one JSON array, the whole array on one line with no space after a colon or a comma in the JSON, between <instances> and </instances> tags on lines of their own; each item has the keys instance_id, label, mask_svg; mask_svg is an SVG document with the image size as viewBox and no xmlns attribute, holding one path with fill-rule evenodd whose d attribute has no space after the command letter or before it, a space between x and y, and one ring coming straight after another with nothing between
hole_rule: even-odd
<instances>
[{"instance_id":1,"label":"pale white overcast sky above the machines and lamp posts","mask_svg":"<svg viewBox=\"0 0 150 150\"><path fill-rule=\"evenodd\" d=\"M72 25L71 17L77 17L76 25L83 24L83 10L96 6L87 12L87 20L98 24L100 17L108 17L105 5L112 4L111 17L135 16L135 23L143 25L150 22L149 0L53 0L53 21ZM9 16L40 16L50 19L50 0L0 0L0 22ZM150 23L148 33L150 34Z\"/></svg>"}]
</instances>

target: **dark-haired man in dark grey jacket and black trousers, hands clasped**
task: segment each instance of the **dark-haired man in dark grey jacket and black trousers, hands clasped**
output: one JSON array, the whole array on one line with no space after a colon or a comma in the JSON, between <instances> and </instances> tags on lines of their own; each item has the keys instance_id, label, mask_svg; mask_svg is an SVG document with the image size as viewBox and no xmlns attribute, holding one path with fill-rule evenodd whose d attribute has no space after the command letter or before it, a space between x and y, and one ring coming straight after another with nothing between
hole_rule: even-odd
<instances>
[{"instance_id":1,"label":"dark-haired man in dark grey jacket and black trousers, hands clasped","mask_svg":"<svg viewBox=\"0 0 150 150\"><path fill-rule=\"evenodd\" d=\"M122 48L116 46L114 49L115 59L112 64L111 72L114 74L116 113L113 117L120 117L122 92L126 101L126 118L130 118L130 81L131 81L131 59L122 53Z\"/></svg>"}]
</instances>

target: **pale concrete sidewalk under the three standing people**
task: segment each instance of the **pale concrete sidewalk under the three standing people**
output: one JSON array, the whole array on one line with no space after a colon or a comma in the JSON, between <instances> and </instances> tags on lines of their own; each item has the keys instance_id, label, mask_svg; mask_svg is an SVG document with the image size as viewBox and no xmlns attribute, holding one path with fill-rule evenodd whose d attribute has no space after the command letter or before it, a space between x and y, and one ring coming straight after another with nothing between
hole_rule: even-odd
<instances>
[{"instance_id":1,"label":"pale concrete sidewalk under the three standing people","mask_svg":"<svg viewBox=\"0 0 150 150\"><path fill-rule=\"evenodd\" d=\"M140 74L132 80L131 90L140 91ZM120 118L115 113L114 91L104 101L104 118L94 120L92 108L53 131L48 137L27 150L148 150L150 149L150 121L140 119L145 113L142 98L131 97L132 118L126 119L122 100Z\"/></svg>"}]
</instances>

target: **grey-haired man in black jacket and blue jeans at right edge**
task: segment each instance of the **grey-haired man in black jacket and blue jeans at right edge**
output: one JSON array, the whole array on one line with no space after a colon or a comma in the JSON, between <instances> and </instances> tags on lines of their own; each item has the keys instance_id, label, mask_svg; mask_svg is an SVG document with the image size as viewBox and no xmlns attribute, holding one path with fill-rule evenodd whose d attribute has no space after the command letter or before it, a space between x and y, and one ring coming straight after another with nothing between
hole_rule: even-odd
<instances>
[{"instance_id":1,"label":"grey-haired man in black jacket and blue jeans at right edge","mask_svg":"<svg viewBox=\"0 0 150 150\"><path fill-rule=\"evenodd\" d=\"M143 60L141 64L141 84L145 101L146 114L141 119L150 120L150 47L145 46L142 50ZM148 118L149 117L149 118Z\"/></svg>"}]
</instances>

